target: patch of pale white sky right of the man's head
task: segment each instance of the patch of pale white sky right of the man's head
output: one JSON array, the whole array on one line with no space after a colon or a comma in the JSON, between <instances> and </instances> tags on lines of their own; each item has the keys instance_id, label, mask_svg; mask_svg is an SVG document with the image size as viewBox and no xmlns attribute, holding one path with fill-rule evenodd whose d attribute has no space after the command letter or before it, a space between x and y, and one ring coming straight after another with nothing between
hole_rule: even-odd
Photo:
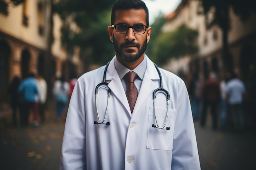
<instances>
[{"instance_id":1,"label":"patch of pale white sky right of the man's head","mask_svg":"<svg viewBox=\"0 0 256 170\"><path fill-rule=\"evenodd\" d=\"M153 24L154 19L162 12L164 15L173 12L181 0L144 0L149 11L149 24Z\"/></svg>"}]
</instances>

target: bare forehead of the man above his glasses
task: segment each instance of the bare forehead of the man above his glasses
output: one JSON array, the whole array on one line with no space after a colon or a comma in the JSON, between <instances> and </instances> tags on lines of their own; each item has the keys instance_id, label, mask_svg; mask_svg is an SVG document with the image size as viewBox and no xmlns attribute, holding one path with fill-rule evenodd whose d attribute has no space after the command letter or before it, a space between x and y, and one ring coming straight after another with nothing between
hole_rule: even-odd
<instances>
[{"instance_id":1,"label":"bare forehead of the man above his glasses","mask_svg":"<svg viewBox=\"0 0 256 170\"><path fill-rule=\"evenodd\" d=\"M146 12L144 9L125 9L116 11L115 24L123 23L128 25L146 25Z\"/></svg>"}]
</instances>

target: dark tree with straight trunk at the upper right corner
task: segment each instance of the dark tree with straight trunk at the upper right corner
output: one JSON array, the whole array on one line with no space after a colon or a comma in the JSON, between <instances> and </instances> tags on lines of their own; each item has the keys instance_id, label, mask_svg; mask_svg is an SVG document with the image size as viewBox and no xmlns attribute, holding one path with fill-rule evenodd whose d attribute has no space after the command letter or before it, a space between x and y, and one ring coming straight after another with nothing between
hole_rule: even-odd
<instances>
[{"instance_id":1,"label":"dark tree with straight trunk at the upper right corner","mask_svg":"<svg viewBox=\"0 0 256 170\"><path fill-rule=\"evenodd\" d=\"M233 65L230 64L231 55L228 50L228 31L229 31L229 9L233 8L234 13L240 16L241 20L249 18L251 12L256 12L256 1L254 0L201 0L206 16L207 26L210 28L214 24L220 26L223 31L222 37L222 65L225 71L232 71ZM209 20L208 13L213 12L213 19Z\"/></svg>"}]
</instances>

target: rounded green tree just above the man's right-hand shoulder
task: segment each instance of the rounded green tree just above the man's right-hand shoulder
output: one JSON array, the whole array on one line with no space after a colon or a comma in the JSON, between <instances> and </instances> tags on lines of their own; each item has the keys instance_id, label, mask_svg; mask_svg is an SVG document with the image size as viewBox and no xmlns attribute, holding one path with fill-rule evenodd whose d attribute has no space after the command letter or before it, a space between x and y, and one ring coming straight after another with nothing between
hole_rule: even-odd
<instances>
[{"instance_id":1,"label":"rounded green tree just above the man's right-hand shoulder","mask_svg":"<svg viewBox=\"0 0 256 170\"><path fill-rule=\"evenodd\" d=\"M184 24L175 31L160 34L153 44L152 60L157 64L165 64L171 57L195 54L198 51L195 43L197 36L197 31Z\"/></svg>"}]
</instances>

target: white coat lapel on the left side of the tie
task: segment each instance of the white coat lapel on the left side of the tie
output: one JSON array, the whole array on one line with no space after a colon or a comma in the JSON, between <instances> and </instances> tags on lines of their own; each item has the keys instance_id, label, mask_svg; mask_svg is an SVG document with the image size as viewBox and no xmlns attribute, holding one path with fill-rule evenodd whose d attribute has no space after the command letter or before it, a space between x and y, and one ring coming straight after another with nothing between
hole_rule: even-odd
<instances>
[{"instance_id":1,"label":"white coat lapel on the left side of the tie","mask_svg":"<svg viewBox=\"0 0 256 170\"><path fill-rule=\"evenodd\" d=\"M111 95L115 95L117 97L117 99L120 101L120 104L126 108L126 110L128 111L128 113L130 113L131 116L130 106L124 91L124 87L115 69L114 59L115 57L111 60L107 70L106 80L110 80L108 87L111 90Z\"/></svg>"}]
</instances>

